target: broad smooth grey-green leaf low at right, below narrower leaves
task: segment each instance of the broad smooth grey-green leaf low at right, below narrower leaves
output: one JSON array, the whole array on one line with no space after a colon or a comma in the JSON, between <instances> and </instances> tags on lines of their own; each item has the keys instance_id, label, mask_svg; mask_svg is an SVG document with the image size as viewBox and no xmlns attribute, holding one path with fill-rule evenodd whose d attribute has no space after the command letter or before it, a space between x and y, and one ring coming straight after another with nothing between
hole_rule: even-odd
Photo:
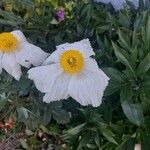
<instances>
[{"instance_id":1,"label":"broad smooth grey-green leaf low at right, below narrower leaves","mask_svg":"<svg viewBox=\"0 0 150 150\"><path fill-rule=\"evenodd\" d=\"M122 101L121 106L124 114L130 122L134 123L137 126L143 125L144 116L140 104L131 104L128 101Z\"/></svg>"}]
</instances>

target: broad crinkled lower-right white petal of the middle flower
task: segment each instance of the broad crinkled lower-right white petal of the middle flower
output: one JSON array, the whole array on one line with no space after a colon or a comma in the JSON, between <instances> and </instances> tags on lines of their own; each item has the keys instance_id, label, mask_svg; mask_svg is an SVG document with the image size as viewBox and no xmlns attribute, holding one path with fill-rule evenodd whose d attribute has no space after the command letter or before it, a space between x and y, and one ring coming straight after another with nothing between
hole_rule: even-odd
<instances>
[{"instance_id":1,"label":"broad crinkled lower-right white petal of the middle flower","mask_svg":"<svg viewBox=\"0 0 150 150\"><path fill-rule=\"evenodd\" d=\"M89 60L83 72L72 76L68 93L83 106L97 107L102 102L108 80L107 75L102 70L97 69L95 62Z\"/></svg>"}]
</instances>

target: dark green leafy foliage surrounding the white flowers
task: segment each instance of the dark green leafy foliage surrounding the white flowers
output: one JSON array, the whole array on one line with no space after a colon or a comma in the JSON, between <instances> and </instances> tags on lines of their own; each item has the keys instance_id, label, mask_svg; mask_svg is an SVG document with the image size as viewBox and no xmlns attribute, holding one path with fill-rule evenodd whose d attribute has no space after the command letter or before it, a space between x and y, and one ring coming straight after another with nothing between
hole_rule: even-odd
<instances>
[{"instance_id":1,"label":"dark green leafy foliage surrounding the white flowers","mask_svg":"<svg viewBox=\"0 0 150 150\"><path fill-rule=\"evenodd\" d=\"M73 99L45 104L27 79L0 76L1 146L12 139L20 149L132 150L150 146L150 12L115 12L88 0L3 0L0 31L23 31L28 40L52 53L55 45L89 38L100 68L111 78L98 108ZM131 6L132 7L132 6ZM65 20L56 12L64 9ZM9 120L11 129L1 124ZM10 141L11 140L11 141ZM4 141L4 142L3 142ZM11 143L12 144L12 143ZM8 144L7 144L8 145ZM8 147L6 149L9 149Z\"/></svg>"}]
</instances>

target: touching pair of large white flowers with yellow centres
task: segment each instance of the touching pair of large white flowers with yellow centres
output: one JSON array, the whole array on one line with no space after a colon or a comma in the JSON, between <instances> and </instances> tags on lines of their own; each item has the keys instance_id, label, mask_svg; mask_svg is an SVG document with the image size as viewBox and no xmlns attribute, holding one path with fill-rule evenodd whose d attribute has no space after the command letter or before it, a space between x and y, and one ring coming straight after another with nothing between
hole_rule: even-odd
<instances>
[{"instance_id":1,"label":"touching pair of large white flowers with yellow centres","mask_svg":"<svg viewBox=\"0 0 150 150\"><path fill-rule=\"evenodd\" d=\"M49 56L29 43L21 31L0 34L0 71L3 68L19 80L21 66L36 66L28 71L28 77L45 93L46 103L72 97L83 106L101 104L109 78L92 55L88 39L59 45Z\"/></svg>"}]
</instances>

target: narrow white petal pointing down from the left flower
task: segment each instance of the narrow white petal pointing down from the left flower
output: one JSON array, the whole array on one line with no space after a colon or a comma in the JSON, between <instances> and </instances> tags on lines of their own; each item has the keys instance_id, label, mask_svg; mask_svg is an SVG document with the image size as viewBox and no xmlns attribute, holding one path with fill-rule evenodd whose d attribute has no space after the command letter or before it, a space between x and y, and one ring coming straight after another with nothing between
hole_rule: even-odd
<instances>
[{"instance_id":1,"label":"narrow white petal pointing down from the left flower","mask_svg":"<svg viewBox=\"0 0 150 150\"><path fill-rule=\"evenodd\" d=\"M2 58L2 68L5 69L16 80L20 79L22 74L21 66L16 62L15 55L12 53L4 53Z\"/></svg>"}]
</instances>

